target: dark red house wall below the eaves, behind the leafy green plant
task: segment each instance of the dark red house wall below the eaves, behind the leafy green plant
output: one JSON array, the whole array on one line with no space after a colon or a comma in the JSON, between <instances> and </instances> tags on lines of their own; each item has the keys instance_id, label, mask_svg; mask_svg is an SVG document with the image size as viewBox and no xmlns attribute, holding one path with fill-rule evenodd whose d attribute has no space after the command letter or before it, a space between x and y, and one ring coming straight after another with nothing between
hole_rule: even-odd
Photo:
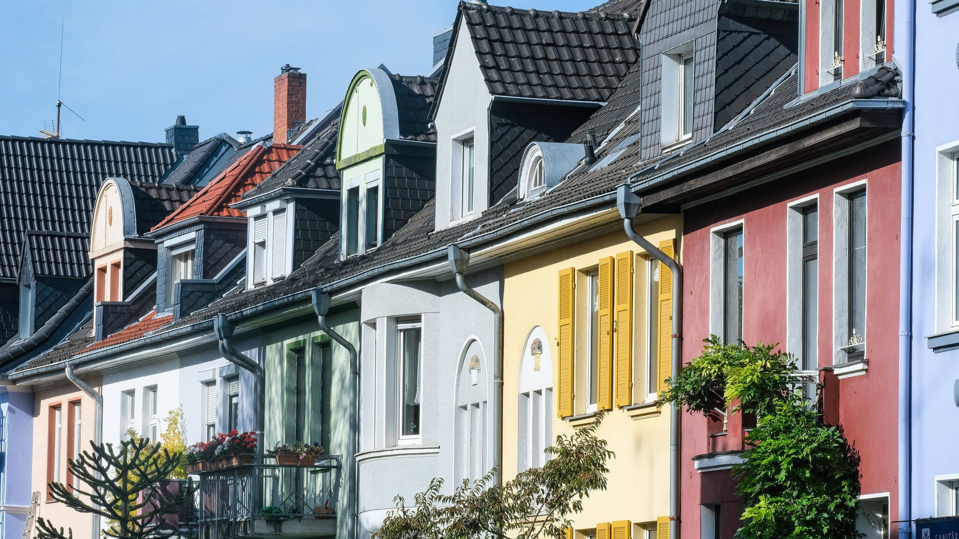
<instances>
[{"instance_id":1,"label":"dark red house wall below the eaves, behind the leafy green plant","mask_svg":"<svg viewBox=\"0 0 959 539\"><path fill-rule=\"evenodd\" d=\"M900 144L882 143L829 163L685 211L683 362L709 337L713 228L742 221L742 336L748 344L786 342L786 219L790 202L818 195L818 363L826 420L840 425L859 451L862 493L889 493L897 506L897 375L900 279ZM833 204L836 190L866 181L865 374L838 380L829 368L833 343ZM791 351L793 352L793 351ZM717 424L718 423L718 424ZM713 433L711 435L711 433ZM720 536L740 526L742 505L728 469L700 473L693 457L743 449L742 419L721 422L684 413L682 423L682 537L700 537L701 504L719 507Z\"/></svg>"}]
</instances>

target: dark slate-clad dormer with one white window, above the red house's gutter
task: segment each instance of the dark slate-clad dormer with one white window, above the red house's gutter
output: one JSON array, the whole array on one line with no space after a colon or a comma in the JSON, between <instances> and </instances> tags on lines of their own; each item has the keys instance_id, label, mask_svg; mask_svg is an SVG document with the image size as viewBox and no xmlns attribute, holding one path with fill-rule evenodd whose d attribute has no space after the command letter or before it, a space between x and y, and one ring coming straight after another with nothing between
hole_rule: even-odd
<instances>
[{"instance_id":1,"label":"dark slate-clad dormer with one white window, above the red house's gutter","mask_svg":"<svg viewBox=\"0 0 959 539\"><path fill-rule=\"evenodd\" d=\"M633 129L642 136L643 160L722 129L798 58L799 10L792 2L650 0L643 7L642 103Z\"/></svg>"}]
</instances>

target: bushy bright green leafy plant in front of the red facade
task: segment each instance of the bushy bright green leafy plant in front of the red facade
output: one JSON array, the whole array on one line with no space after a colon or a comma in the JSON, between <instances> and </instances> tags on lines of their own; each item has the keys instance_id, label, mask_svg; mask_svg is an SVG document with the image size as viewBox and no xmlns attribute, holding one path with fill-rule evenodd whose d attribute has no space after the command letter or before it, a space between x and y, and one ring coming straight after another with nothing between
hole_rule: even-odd
<instances>
[{"instance_id":1,"label":"bushy bright green leafy plant in front of the red facade","mask_svg":"<svg viewBox=\"0 0 959 539\"><path fill-rule=\"evenodd\" d=\"M856 537L858 454L799 391L795 360L773 351L778 345L705 342L702 355L667 380L662 404L756 414L733 468L745 506L737 539Z\"/></svg>"}]
</instances>

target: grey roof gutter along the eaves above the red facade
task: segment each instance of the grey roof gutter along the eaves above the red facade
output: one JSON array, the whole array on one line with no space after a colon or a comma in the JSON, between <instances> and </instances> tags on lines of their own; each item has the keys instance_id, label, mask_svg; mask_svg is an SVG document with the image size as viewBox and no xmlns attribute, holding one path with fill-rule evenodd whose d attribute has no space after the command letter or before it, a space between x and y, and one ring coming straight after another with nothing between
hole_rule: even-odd
<instances>
[{"instance_id":1,"label":"grey roof gutter along the eaves above the red facade","mask_svg":"<svg viewBox=\"0 0 959 539\"><path fill-rule=\"evenodd\" d=\"M852 110L868 110L868 109L893 109L893 108L902 108L905 105L900 99L856 99L853 101L848 101L839 105L833 105L826 110L811 114L805 118L801 118L787 126L777 129L769 129L765 132L762 132L756 136L750 137L734 146L725 146L722 150L709 153L704 155L678 169L671 170L667 173L663 173L657 176L650 176L643 178L637 181L635 184L632 184L633 191L640 191L646 187L650 187L654 184L668 181L676 176L683 176L687 173L691 173L697 169L700 169L704 166L714 165L717 161L725 157L733 157L739 152L745 152L747 150L752 150L754 147L770 142L775 139L783 138L786 135L793 134L797 131L812 127L817 124L826 122L832 118L850 112ZM655 169L656 165L653 165L652 169ZM634 180L643 175L643 173L648 172L650 169L645 169L638 173L633 174L627 178L627 181L632 183Z\"/></svg>"}]
</instances>

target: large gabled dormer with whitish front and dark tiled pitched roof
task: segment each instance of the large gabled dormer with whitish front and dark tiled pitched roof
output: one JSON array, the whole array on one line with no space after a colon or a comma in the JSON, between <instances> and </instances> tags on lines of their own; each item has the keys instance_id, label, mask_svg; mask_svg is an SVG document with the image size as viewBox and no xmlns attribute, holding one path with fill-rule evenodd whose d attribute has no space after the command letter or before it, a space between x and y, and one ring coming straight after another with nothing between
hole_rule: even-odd
<instances>
[{"instance_id":1,"label":"large gabled dormer with whitish front and dark tiled pitched roof","mask_svg":"<svg viewBox=\"0 0 959 539\"><path fill-rule=\"evenodd\" d=\"M516 187L530 142L563 142L639 59L635 16L460 3L433 107L436 229Z\"/></svg>"}]
</instances>

